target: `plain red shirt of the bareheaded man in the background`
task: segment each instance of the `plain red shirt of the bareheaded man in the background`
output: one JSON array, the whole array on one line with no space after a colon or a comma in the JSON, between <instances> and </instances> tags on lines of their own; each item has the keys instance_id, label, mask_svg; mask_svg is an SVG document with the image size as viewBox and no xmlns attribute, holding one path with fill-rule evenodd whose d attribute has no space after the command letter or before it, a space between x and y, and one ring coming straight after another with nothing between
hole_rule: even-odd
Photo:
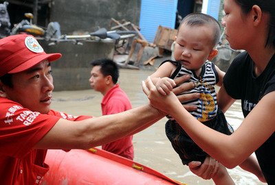
<instances>
[{"instance_id":1,"label":"plain red shirt of the bareheaded man in the background","mask_svg":"<svg viewBox=\"0 0 275 185\"><path fill-rule=\"evenodd\" d=\"M102 114L107 115L124 112L125 110L131 109L132 106L126 93L124 93L118 84L115 84L115 86L104 95L101 108ZM102 145L102 149L133 160L132 139L133 136L126 136L107 145Z\"/></svg>"}]
</instances>

